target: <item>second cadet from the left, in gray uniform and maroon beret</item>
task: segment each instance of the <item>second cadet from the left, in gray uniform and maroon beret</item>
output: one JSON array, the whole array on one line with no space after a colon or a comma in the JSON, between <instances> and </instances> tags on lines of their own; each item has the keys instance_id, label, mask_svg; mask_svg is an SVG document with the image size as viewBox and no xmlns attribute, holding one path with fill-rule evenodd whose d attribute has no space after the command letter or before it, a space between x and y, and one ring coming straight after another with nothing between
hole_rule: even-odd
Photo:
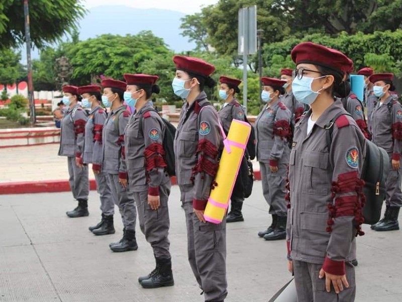
<instances>
[{"instance_id":1,"label":"second cadet from the left, in gray uniform and maroon beret","mask_svg":"<svg viewBox=\"0 0 402 302\"><path fill-rule=\"evenodd\" d=\"M85 124L84 153L81 160L84 165L92 164L96 190L100 195L100 210L102 211L102 219L95 226L90 226L89 231L94 235L115 234L113 224L115 203L108 176L100 172L102 171L102 130L108 115L100 107L99 86L82 86L78 88L78 93L82 96L82 107L90 108L89 117Z\"/></svg>"}]
</instances>

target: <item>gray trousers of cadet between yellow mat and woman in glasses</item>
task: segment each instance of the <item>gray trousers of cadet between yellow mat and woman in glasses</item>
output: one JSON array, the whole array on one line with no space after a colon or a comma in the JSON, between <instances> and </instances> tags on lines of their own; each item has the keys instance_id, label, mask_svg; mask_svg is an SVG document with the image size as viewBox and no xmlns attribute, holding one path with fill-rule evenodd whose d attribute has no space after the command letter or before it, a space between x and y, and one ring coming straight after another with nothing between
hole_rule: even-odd
<instances>
[{"instance_id":1,"label":"gray trousers of cadet between yellow mat and woman in glasses","mask_svg":"<svg viewBox=\"0 0 402 302\"><path fill-rule=\"evenodd\" d=\"M279 162L278 172L271 172L269 164L259 162L262 193L266 202L269 205L269 213L276 214L281 217L287 216L286 208L286 165Z\"/></svg>"}]
</instances>

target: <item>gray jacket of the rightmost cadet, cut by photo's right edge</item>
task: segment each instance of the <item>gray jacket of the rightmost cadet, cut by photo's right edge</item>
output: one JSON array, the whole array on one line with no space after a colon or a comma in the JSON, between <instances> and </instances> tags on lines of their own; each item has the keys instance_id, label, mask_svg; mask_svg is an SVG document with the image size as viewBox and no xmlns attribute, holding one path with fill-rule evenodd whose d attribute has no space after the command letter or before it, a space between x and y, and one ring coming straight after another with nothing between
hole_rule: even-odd
<instances>
[{"instance_id":1,"label":"gray jacket of the rightmost cadet, cut by photo's right edge","mask_svg":"<svg viewBox=\"0 0 402 302\"><path fill-rule=\"evenodd\" d=\"M402 153L402 107L393 96L381 105L378 102L372 114L373 142L384 148L389 157L400 159Z\"/></svg>"}]
</instances>

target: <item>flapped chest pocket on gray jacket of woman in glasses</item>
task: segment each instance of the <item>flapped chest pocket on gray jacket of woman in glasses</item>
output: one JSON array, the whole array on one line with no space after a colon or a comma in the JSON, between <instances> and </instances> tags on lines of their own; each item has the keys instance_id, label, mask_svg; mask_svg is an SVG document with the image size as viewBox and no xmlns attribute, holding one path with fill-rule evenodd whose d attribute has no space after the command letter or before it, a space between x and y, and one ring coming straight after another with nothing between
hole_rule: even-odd
<instances>
[{"instance_id":1,"label":"flapped chest pocket on gray jacket of woman in glasses","mask_svg":"<svg viewBox=\"0 0 402 302\"><path fill-rule=\"evenodd\" d=\"M303 158L302 193L328 195L331 177L328 171L328 153L310 151Z\"/></svg>"}]
</instances>

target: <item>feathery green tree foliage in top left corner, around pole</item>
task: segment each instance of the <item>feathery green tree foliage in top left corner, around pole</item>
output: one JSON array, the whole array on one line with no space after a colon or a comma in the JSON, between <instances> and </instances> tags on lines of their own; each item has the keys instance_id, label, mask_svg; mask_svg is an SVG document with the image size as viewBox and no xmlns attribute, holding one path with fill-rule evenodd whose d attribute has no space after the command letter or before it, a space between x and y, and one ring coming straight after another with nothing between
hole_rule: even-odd
<instances>
[{"instance_id":1,"label":"feathery green tree foliage in top left corner, around pole","mask_svg":"<svg viewBox=\"0 0 402 302\"><path fill-rule=\"evenodd\" d=\"M32 44L38 48L56 42L78 27L85 14L80 0L35 0L29 2ZM24 2L0 2L0 48L25 41Z\"/></svg>"}]
</instances>

